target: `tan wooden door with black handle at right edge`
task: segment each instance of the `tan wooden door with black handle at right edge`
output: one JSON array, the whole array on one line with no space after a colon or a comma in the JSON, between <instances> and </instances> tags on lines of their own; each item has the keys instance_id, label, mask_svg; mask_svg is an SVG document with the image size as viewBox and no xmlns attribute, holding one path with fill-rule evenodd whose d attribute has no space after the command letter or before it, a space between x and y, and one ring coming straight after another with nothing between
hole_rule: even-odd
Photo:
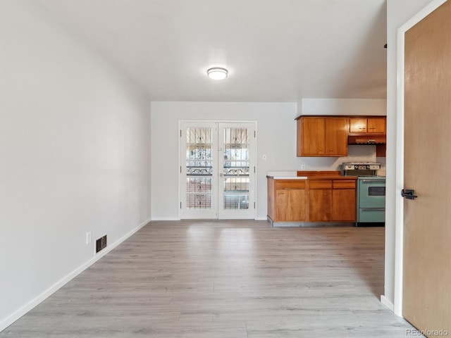
<instances>
[{"instance_id":1,"label":"tan wooden door with black handle at right edge","mask_svg":"<svg viewBox=\"0 0 451 338\"><path fill-rule=\"evenodd\" d=\"M405 33L403 316L451 332L451 1ZM434 334L429 335L434 337Z\"/></svg>"}]
</instances>

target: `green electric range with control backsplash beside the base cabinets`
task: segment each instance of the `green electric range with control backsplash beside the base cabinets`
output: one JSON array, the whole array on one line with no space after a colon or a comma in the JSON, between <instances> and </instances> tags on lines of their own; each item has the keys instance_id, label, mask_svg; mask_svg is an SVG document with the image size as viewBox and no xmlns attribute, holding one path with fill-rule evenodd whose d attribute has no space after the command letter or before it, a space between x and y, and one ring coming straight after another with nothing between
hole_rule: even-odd
<instances>
[{"instance_id":1,"label":"green electric range with control backsplash beside the base cabinets","mask_svg":"<svg viewBox=\"0 0 451 338\"><path fill-rule=\"evenodd\" d=\"M378 176L381 163L343 163L343 175L357 176L356 225L385 225L385 177Z\"/></svg>"}]
</instances>

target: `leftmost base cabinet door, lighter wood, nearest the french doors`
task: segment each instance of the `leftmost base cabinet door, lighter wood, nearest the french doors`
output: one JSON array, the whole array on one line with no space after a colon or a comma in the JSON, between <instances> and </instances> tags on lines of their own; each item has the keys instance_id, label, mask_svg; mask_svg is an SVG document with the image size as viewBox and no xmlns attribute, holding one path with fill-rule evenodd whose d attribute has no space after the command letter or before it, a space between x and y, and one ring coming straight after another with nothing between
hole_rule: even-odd
<instances>
[{"instance_id":1,"label":"leftmost base cabinet door, lighter wood, nearest the french doors","mask_svg":"<svg viewBox=\"0 0 451 338\"><path fill-rule=\"evenodd\" d=\"M278 189L276 192L276 219L281 222L307 220L305 189Z\"/></svg>"}]
</instances>

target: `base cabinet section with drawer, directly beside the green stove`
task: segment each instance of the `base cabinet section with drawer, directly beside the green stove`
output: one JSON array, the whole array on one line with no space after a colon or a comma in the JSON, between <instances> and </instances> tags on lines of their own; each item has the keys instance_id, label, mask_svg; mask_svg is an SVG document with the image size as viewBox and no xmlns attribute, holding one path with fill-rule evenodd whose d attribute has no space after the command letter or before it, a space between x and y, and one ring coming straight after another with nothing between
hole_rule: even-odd
<instances>
[{"instance_id":1,"label":"base cabinet section with drawer, directly beside the green stove","mask_svg":"<svg viewBox=\"0 0 451 338\"><path fill-rule=\"evenodd\" d=\"M338 222L357 220L355 180L333 181L332 219Z\"/></svg>"}]
</instances>

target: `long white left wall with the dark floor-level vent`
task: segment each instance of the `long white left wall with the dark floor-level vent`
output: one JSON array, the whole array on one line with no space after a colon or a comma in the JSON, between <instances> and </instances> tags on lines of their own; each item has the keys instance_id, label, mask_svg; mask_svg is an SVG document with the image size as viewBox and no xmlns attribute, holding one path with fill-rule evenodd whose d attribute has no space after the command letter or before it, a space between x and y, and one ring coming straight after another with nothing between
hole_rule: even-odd
<instances>
[{"instance_id":1,"label":"long white left wall with the dark floor-level vent","mask_svg":"<svg viewBox=\"0 0 451 338\"><path fill-rule=\"evenodd\" d=\"M149 219L149 113L38 1L0 1L0 330Z\"/></svg>"}]
</instances>

